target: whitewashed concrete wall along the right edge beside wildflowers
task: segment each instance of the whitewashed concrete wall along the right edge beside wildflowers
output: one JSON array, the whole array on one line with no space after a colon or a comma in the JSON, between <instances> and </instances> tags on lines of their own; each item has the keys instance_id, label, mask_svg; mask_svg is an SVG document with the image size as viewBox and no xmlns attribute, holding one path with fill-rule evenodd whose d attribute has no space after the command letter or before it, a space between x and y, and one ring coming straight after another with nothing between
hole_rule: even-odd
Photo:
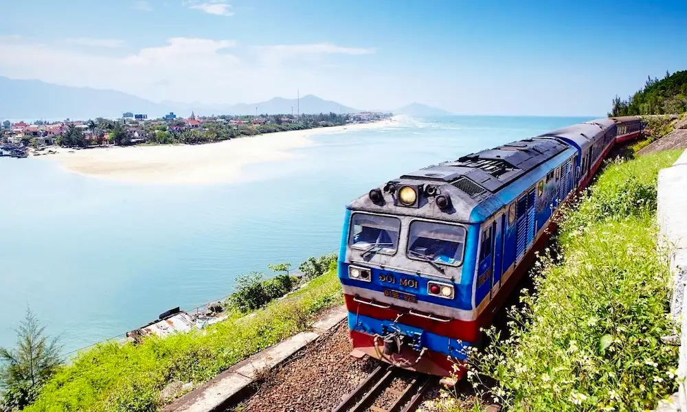
<instances>
[{"instance_id":1,"label":"whitewashed concrete wall along the right edge beside wildflowers","mask_svg":"<svg viewBox=\"0 0 687 412\"><path fill-rule=\"evenodd\" d=\"M679 376L687 376L687 150L673 164L658 174L658 223L660 226L659 247L668 251L673 270L671 313L682 325L679 336ZM678 393L679 411L687 412L687 389L680 385Z\"/></svg>"}]
</instances>

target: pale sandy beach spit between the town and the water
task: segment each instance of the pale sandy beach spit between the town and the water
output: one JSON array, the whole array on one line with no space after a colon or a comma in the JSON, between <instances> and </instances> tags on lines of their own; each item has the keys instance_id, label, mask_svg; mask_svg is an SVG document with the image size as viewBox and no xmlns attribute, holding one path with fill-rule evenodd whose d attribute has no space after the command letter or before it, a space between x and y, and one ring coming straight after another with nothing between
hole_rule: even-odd
<instances>
[{"instance_id":1,"label":"pale sandy beach spit between the town and the water","mask_svg":"<svg viewBox=\"0 0 687 412\"><path fill-rule=\"evenodd\" d=\"M289 150L310 146L313 135L350 133L384 128L398 117L380 122L268 133L218 143L170 146L51 148L56 153L35 159L53 159L71 172L127 183L218 184L245 181L246 165L279 161Z\"/></svg>"}]
</instances>

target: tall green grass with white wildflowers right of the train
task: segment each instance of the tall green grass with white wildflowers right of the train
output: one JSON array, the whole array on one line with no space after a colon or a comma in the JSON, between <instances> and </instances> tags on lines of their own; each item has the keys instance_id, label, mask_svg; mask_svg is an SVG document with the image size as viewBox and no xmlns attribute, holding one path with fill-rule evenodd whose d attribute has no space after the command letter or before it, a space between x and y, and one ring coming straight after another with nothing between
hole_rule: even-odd
<instances>
[{"instance_id":1,"label":"tall green grass with white wildflowers right of the train","mask_svg":"<svg viewBox=\"0 0 687 412\"><path fill-rule=\"evenodd\" d=\"M482 401L508 411L644 411L677 388L670 271L657 253L657 174L679 151L614 161L575 209L509 311L509 336L471 353ZM660 252L660 251L659 251ZM443 402L447 411L466 399ZM451 406L453 405L453 406Z\"/></svg>"}]
</instances>

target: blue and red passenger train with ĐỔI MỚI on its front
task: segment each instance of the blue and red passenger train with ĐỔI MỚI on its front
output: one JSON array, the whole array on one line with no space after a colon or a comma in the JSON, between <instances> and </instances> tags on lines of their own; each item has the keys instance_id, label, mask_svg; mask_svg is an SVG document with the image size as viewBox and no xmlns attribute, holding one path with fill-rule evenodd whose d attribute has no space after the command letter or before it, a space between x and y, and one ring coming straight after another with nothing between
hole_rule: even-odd
<instances>
[{"instance_id":1,"label":"blue and red passenger train with \u0110\u1ed4I M\u1edaI on its front","mask_svg":"<svg viewBox=\"0 0 687 412\"><path fill-rule=\"evenodd\" d=\"M556 211L645 126L574 124L403 174L346 205L337 266L352 355L462 378Z\"/></svg>"}]
</instances>

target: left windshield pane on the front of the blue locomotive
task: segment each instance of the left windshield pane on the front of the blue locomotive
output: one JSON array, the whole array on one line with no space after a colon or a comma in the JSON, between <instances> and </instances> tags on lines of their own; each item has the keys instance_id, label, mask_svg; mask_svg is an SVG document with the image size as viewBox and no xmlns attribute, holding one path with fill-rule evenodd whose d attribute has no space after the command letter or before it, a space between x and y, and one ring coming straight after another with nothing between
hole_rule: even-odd
<instances>
[{"instance_id":1,"label":"left windshield pane on the front of the blue locomotive","mask_svg":"<svg viewBox=\"0 0 687 412\"><path fill-rule=\"evenodd\" d=\"M398 218L356 213L350 224L350 247L365 250L374 247L375 252L396 253L398 233L401 231L401 220Z\"/></svg>"}]
</instances>

